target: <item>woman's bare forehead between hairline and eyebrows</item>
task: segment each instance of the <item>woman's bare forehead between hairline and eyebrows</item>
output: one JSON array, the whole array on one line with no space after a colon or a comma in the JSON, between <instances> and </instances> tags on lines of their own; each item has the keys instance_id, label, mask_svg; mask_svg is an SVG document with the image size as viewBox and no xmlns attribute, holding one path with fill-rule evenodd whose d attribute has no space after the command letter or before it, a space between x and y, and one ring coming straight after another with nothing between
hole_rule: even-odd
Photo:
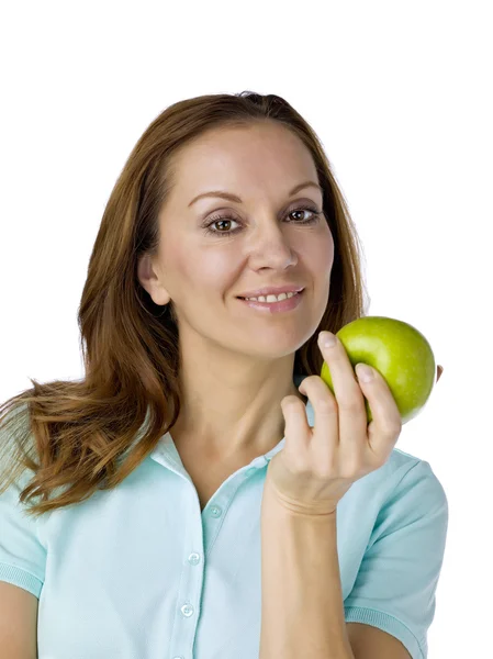
<instances>
[{"instance_id":1,"label":"woman's bare forehead between hairline and eyebrows","mask_svg":"<svg viewBox=\"0 0 493 659\"><path fill-rule=\"evenodd\" d=\"M222 127L187 144L173 158L175 197L224 187L255 193L282 185L291 189L306 178L317 180L312 154L288 129L276 124ZM189 201L189 200L188 200Z\"/></svg>"}]
</instances>

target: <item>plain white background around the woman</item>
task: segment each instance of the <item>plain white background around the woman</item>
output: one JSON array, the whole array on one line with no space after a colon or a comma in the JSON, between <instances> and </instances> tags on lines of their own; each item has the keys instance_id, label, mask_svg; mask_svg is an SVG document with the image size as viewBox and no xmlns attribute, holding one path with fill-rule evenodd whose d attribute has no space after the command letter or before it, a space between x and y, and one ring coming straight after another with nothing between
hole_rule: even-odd
<instances>
[{"instance_id":1,"label":"plain white background around the woman","mask_svg":"<svg viewBox=\"0 0 493 659\"><path fill-rule=\"evenodd\" d=\"M429 657L491 651L491 2L4 2L0 398L82 377L77 306L104 205L168 105L253 90L321 136L362 241L370 315L445 372L399 448L450 522Z\"/></svg>"}]
</instances>

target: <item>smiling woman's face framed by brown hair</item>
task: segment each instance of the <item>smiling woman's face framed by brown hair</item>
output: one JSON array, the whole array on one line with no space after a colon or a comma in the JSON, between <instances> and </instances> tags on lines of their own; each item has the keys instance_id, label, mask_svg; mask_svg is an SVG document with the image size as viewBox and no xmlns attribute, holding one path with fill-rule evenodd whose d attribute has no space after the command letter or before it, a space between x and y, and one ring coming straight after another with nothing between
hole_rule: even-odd
<instances>
[{"instance_id":1,"label":"smiling woman's face framed by brown hair","mask_svg":"<svg viewBox=\"0 0 493 659\"><path fill-rule=\"evenodd\" d=\"M293 354L325 312L334 263L310 152L276 124L221 129L184 147L175 165L176 183L159 215L159 252L152 261L156 279L145 284L154 302L173 302L181 342L193 336L202 347L205 340L268 360ZM306 181L316 187L290 196ZM240 201L216 194L195 200L213 190ZM293 311L262 313L237 298L283 284L304 287Z\"/></svg>"}]
</instances>

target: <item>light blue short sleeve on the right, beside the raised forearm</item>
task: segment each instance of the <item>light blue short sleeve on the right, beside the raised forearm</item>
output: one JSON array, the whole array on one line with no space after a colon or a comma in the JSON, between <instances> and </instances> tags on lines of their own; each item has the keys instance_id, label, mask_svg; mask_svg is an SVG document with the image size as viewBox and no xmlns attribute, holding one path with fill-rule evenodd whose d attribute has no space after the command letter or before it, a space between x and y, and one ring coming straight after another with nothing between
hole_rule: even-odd
<instances>
[{"instance_id":1,"label":"light blue short sleeve on the right, beside the raised forearm","mask_svg":"<svg viewBox=\"0 0 493 659\"><path fill-rule=\"evenodd\" d=\"M379 627L395 636L413 659L426 659L447 528L446 493L429 463L421 460L380 510L344 602L346 623Z\"/></svg>"}]
</instances>

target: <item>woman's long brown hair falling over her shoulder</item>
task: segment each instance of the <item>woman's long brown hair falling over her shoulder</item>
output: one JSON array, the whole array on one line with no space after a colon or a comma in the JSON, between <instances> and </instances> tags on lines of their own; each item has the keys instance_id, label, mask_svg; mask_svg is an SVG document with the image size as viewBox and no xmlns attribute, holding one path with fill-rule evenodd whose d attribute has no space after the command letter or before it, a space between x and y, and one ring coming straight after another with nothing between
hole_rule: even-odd
<instances>
[{"instance_id":1,"label":"woman's long brown hair falling over her shoulder","mask_svg":"<svg viewBox=\"0 0 493 659\"><path fill-rule=\"evenodd\" d=\"M85 379L40 384L30 378L33 388L0 406L0 493L32 470L30 484L19 490L19 501L32 503L26 514L37 517L115 488L176 423L177 319L172 302L165 310L153 302L137 279L137 265L143 254L155 255L158 248L158 213L176 180L173 155L208 130L258 122L284 125L310 149L334 238L327 309L296 350L294 372L320 375L318 333L338 332L365 315L359 238L322 143L306 121L282 98L249 91L170 105L135 145L102 216L78 310ZM147 418L148 427L136 436ZM48 501L58 488L59 495ZM33 503L34 498L41 501Z\"/></svg>"}]
</instances>

